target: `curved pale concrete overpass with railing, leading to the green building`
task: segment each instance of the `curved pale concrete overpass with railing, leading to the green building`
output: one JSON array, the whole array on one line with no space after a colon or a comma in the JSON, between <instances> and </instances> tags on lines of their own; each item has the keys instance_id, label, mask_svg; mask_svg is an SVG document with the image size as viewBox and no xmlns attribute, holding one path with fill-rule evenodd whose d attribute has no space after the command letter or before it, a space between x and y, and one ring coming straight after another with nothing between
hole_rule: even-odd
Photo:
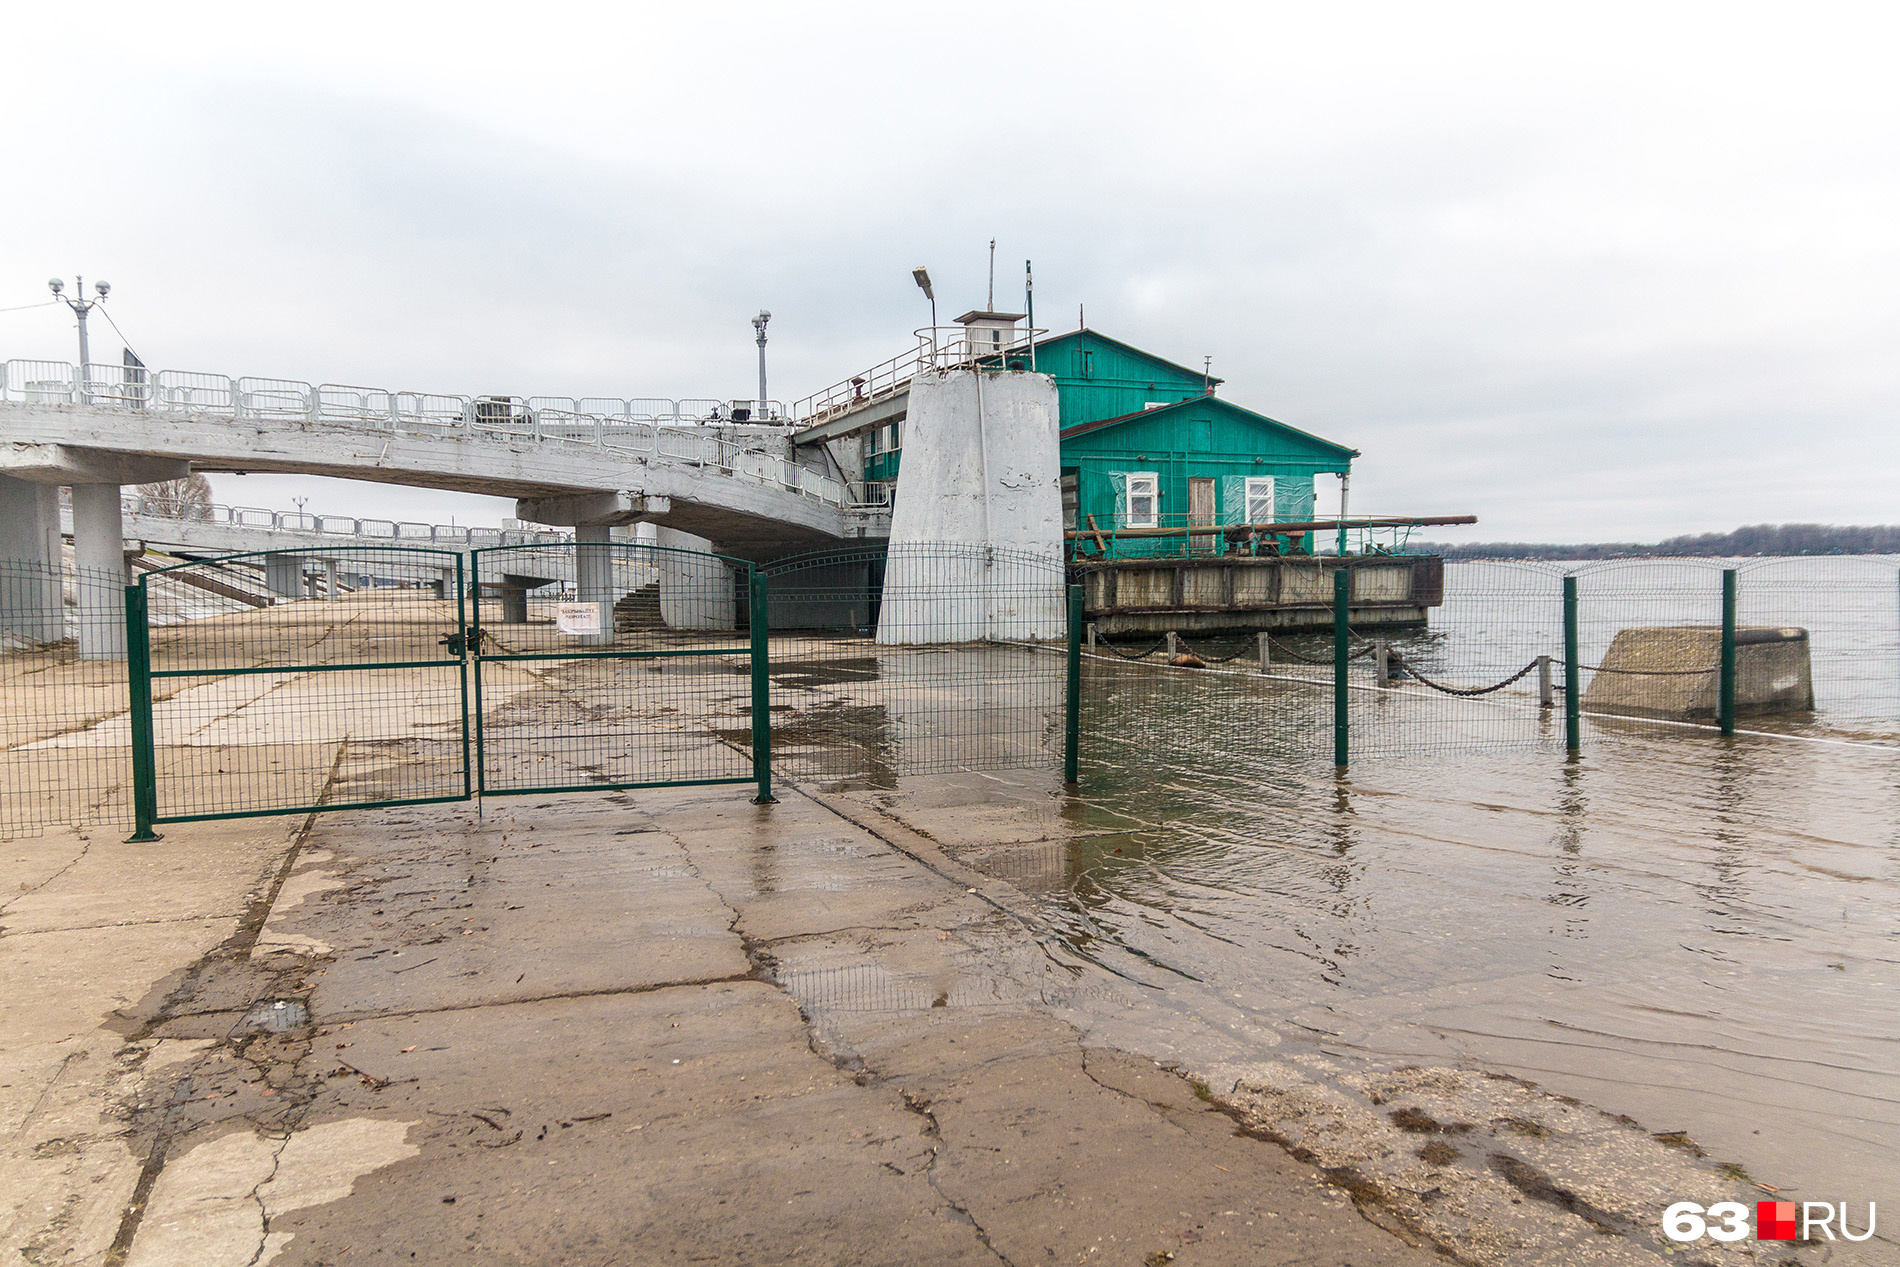
<instances>
[{"instance_id":1,"label":"curved pale concrete overpass with railing, leading to the green building","mask_svg":"<svg viewBox=\"0 0 1900 1267\"><path fill-rule=\"evenodd\" d=\"M887 515L849 505L840 479L798 462L785 427L661 424L619 405L581 414L517 397L6 361L0 557L59 557L53 490L65 484L78 566L122 572L120 488L192 471L505 496L521 519L572 526L581 541L654 522L754 560L889 532Z\"/></svg>"}]
</instances>

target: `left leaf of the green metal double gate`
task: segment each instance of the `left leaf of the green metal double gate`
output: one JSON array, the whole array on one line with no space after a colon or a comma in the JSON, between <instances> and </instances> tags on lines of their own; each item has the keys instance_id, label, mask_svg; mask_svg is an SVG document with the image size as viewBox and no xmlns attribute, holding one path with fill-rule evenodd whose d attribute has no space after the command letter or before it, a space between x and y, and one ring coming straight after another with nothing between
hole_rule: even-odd
<instances>
[{"instance_id":1,"label":"left leaf of the green metal double gate","mask_svg":"<svg viewBox=\"0 0 1900 1267\"><path fill-rule=\"evenodd\" d=\"M133 840L154 824L469 796L464 564L260 551L125 591Z\"/></svg>"}]
</instances>

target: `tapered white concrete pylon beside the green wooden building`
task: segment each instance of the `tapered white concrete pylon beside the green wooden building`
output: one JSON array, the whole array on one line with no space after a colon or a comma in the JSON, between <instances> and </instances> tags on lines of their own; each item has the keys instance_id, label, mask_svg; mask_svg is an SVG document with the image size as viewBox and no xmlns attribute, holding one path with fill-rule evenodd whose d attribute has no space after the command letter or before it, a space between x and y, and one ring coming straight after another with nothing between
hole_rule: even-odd
<instances>
[{"instance_id":1,"label":"tapered white concrete pylon beside the green wooden building","mask_svg":"<svg viewBox=\"0 0 1900 1267\"><path fill-rule=\"evenodd\" d=\"M1054 378L927 370L908 410L878 642L1060 638Z\"/></svg>"}]
</instances>

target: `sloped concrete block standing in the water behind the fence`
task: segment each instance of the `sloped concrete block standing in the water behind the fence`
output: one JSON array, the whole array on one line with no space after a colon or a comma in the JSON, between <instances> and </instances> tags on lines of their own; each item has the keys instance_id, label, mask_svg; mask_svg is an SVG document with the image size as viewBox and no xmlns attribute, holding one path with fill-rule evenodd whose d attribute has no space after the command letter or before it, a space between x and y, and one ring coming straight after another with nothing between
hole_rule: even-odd
<instances>
[{"instance_id":1,"label":"sloped concrete block standing in the water behind the fence","mask_svg":"<svg viewBox=\"0 0 1900 1267\"><path fill-rule=\"evenodd\" d=\"M1585 712L1714 720L1721 691L1721 629L1676 625L1619 629L1583 691ZM1735 631L1735 712L1809 712L1814 674L1805 629Z\"/></svg>"}]
</instances>

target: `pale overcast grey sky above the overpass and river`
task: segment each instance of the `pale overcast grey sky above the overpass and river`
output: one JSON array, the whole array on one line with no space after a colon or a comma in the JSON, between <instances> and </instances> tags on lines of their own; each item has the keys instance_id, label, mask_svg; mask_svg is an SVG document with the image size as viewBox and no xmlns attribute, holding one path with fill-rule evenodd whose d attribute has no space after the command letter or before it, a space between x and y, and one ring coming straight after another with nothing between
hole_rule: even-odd
<instances>
[{"instance_id":1,"label":"pale overcast grey sky above the overpass and river","mask_svg":"<svg viewBox=\"0 0 1900 1267\"><path fill-rule=\"evenodd\" d=\"M1199 365L1463 539L1900 522L1873 4L15 6L0 308L152 367L792 399L998 306ZM0 355L72 359L63 308ZM93 331L95 359L118 338ZM1336 494L1322 481L1320 503ZM496 522L283 477L218 500Z\"/></svg>"}]
</instances>

